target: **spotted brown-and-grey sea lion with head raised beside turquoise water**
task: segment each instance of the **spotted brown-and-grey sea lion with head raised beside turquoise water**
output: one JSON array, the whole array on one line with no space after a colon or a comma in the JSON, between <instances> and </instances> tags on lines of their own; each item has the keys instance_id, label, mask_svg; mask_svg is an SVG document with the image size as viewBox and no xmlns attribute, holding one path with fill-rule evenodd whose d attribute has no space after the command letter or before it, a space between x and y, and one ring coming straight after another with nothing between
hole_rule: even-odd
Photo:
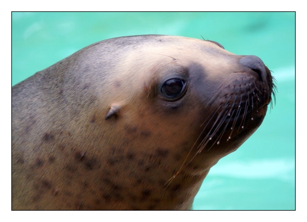
<instances>
[{"instance_id":1,"label":"spotted brown-and-grey sea lion with head raised beside turquoise water","mask_svg":"<svg viewBox=\"0 0 307 222\"><path fill-rule=\"evenodd\" d=\"M90 45L12 88L12 209L190 209L262 123L257 56L144 35Z\"/></svg>"}]
</instances>

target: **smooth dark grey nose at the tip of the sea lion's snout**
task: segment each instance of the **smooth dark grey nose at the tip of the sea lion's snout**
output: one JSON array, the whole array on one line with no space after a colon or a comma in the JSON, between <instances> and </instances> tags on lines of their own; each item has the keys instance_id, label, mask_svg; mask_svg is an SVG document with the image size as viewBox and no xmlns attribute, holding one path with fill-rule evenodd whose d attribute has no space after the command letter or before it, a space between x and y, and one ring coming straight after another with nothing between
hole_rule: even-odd
<instances>
[{"instance_id":1,"label":"smooth dark grey nose at the tip of the sea lion's snout","mask_svg":"<svg viewBox=\"0 0 307 222\"><path fill-rule=\"evenodd\" d=\"M258 73L261 81L266 81L266 68L262 60L257 56L244 56L239 63Z\"/></svg>"}]
</instances>

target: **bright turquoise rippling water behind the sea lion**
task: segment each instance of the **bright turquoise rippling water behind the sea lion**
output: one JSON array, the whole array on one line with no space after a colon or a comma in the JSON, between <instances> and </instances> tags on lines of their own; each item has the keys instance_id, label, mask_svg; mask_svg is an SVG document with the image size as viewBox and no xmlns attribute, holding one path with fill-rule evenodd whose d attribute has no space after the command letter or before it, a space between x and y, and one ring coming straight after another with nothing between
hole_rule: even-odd
<instances>
[{"instance_id":1,"label":"bright turquoise rippling water behind the sea lion","mask_svg":"<svg viewBox=\"0 0 307 222\"><path fill-rule=\"evenodd\" d=\"M202 35L259 56L277 80L276 106L212 167L193 209L295 209L294 13L13 13L12 85L91 43L141 34Z\"/></svg>"}]
</instances>

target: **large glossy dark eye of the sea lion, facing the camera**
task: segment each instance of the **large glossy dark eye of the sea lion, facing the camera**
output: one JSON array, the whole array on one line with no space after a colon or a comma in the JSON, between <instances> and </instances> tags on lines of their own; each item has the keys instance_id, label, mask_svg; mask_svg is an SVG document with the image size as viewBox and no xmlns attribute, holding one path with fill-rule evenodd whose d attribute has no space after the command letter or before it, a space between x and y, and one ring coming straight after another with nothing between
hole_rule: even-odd
<instances>
[{"instance_id":1,"label":"large glossy dark eye of the sea lion, facing the camera","mask_svg":"<svg viewBox=\"0 0 307 222\"><path fill-rule=\"evenodd\" d=\"M174 100L179 99L179 95L182 95L185 89L185 80L182 79L169 79L166 80L162 87L162 95L166 96L168 99ZM178 98L179 97L179 98Z\"/></svg>"}]
</instances>

